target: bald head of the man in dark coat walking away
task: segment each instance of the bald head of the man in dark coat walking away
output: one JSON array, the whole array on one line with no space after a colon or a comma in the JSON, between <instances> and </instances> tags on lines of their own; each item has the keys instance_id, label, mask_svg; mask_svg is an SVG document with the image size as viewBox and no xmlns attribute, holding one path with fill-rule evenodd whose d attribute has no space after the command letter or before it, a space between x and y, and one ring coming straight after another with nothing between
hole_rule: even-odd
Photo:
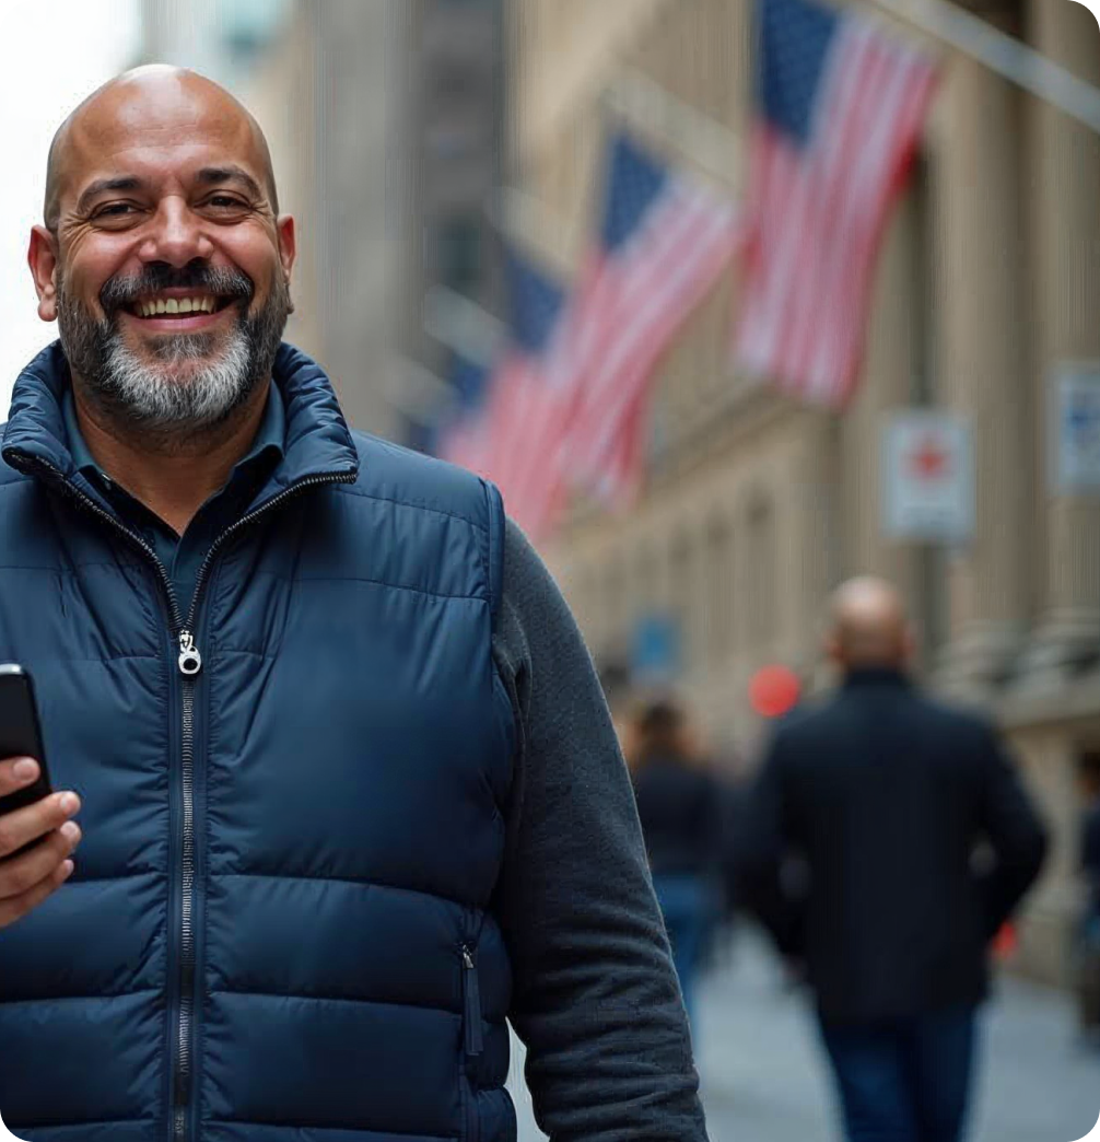
<instances>
[{"instance_id":1,"label":"bald head of the man in dark coat walking away","mask_svg":"<svg viewBox=\"0 0 1100 1142\"><path fill-rule=\"evenodd\" d=\"M849 579L833 595L831 652L846 669L900 668L912 649L905 604L884 579Z\"/></svg>"}]
</instances>

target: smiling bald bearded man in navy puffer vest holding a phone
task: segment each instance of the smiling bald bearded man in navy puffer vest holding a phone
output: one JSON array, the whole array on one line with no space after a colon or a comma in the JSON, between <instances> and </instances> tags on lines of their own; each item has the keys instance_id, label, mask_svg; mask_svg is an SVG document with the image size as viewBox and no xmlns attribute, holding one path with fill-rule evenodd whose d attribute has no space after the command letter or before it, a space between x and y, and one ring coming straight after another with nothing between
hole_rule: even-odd
<instances>
[{"instance_id":1,"label":"smiling bald bearded man in navy puffer vest holding a phone","mask_svg":"<svg viewBox=\"0 0 1100 1142\"><path fill-rule=\"evenodd\" d=\"M350 432L282 343L294 252L208 80L127 73L57 132L60 338L0 465L0 660L56 790L0 817L0 1117L504 1142L509 1019L551 1137L703 1140L576 625L495 488Z\"/></svg>"}]
</instances>

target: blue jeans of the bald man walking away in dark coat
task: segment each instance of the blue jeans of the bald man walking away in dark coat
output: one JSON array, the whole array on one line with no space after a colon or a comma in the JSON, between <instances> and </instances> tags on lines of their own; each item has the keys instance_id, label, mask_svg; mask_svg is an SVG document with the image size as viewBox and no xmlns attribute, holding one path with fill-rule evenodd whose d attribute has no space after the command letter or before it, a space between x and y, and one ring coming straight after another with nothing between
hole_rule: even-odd
<instances>
[{"instance_id":1,"label":"blue jeans of the bald man walking away in dark coat","mask_svg":"<svg viewBox=\"0 0 1100 1142\"><path fill-rule=\"evenodd\" d=\"M871 1024L822 1023L849 1142L959 1142L974 1008Z\"/></svg>"}]
</instances>

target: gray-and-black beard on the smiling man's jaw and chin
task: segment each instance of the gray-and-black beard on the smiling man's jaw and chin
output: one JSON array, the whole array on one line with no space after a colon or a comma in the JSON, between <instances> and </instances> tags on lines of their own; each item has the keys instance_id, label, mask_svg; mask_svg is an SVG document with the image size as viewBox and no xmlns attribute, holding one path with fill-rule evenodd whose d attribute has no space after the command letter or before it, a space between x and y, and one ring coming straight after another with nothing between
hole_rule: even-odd
<instances>
[{"instance_id":1,"label":"gray-and-black beard on the smiling man's jaw and chin","mask_svg":"<svg viewBox=\"0 0 1100 1142\"><path fill-rule=\"evenodd\" d=\"M242 313L215 356L208 355L215 333L168 333L152 341L149 362L126 344L118 316L97 321L63 282L57 300L62 348L88 395L120 428L162 447L216 434L233 420L270 377L289 314L280 281L259 314Z\"/></svg>"}]
</instances>

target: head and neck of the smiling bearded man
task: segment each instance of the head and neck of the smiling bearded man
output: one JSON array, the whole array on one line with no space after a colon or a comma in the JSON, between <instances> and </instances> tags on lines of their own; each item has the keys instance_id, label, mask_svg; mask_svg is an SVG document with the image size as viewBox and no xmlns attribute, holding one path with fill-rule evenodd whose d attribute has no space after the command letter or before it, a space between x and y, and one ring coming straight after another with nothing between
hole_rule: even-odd
<instances>
[{"instance_id":1,"label":"head and neck of the smiling bearded man","mask_svg":"<svg viewBox=\"0 0 1100 1142\"><path fill-rule=\"evenodd\" d=\"M139 70L58 130L45 216L31 268L81 429L183 532L256 435L291 312L294 223L264 135L215 85Z\"/></svg>"}]
</instances>

